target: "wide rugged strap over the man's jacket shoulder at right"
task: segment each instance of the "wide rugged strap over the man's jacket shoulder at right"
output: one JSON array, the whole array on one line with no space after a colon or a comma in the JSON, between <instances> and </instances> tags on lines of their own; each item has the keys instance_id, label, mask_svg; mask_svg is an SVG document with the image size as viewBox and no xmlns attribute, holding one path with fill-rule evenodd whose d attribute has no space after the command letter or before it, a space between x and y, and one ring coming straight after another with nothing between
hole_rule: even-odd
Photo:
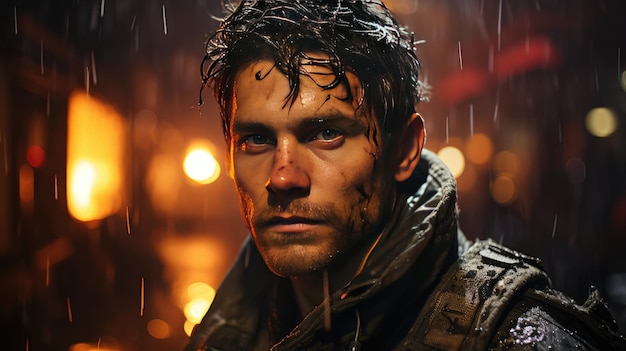
<instances>
[{"instance_id":1,"label":"wide rugged strap over the man's jacket shoulder at right","mask_svg":"<svg viewBox=\"0 0 626 351\"><path fill-rule=\"evenodd\" d=\"M549 286L541 261L477 241L443 276L402 350L483 350L509 301L524 288Z\"/></svg>"}]
</instances>

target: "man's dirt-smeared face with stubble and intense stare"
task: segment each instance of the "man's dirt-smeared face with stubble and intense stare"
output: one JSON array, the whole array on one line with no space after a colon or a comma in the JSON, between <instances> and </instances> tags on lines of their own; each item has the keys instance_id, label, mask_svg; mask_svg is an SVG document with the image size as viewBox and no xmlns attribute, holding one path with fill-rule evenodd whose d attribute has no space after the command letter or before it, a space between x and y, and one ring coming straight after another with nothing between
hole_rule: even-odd
<instances>
[{"instance_id":1,"label":"man's dirt-smeared face with stubble and intense stare","mask_svg":"<svg viewBox=\"0 0 626 351\"><path fill-rule=\"evenodd\" d=\"M252 237L280 276L322 270L363 246L390 208L393 171L383 171L375 118L357 108L358 78L322 89L332 73L302 66L291 104L287 78L260 60L235 79L231 172Z\"/></svg>"}]
</instances>

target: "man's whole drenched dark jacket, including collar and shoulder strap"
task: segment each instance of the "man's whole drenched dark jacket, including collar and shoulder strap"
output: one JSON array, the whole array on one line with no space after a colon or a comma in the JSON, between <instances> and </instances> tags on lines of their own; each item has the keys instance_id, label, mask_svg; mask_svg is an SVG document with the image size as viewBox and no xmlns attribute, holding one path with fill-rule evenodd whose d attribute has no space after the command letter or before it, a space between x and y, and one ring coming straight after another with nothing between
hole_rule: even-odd
<instances>
[{"instance_id":1,"label":"man's whole drenched dark jacket, including collar and shoulder strap","mask_svg":"<svg viewBox=\"0 0 626 351\"><path fill-rule=\"evenodd\" d=\"M465 239L434 154L399 194L364 269L304 317L248 240L186 350L626 350L596 292L578 306L539 260Z\"/></svg>"}]
</instances>

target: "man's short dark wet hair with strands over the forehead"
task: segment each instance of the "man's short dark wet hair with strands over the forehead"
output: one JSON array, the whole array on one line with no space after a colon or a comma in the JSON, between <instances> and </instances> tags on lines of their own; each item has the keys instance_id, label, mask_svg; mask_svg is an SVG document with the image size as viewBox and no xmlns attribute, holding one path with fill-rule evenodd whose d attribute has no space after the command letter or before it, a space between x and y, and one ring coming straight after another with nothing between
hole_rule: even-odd
<instances>
[{"instance_id":1,"label":"man's short dark wet hair with strands over the forehead","mask_svg":"<svg viewBox=\"0 0 626 351\"><path fill-rule=\"evenodd\" d=\"M211 86L220 105L227 141L234 79L261 58L273 59L274 69L287 76L286 104L297 97L300 76L309 75L305 64L332 70L334 79L318 83L322 89L345 84L350 92L345 72L356 74L363 93L359 106L378 119L383 145L402 130L422 100L413 33L380 1L244 0L226 8L230 14L207 40L201 73L202 87ZM322 52L328 59L312 59L307 52ZM346 99L353 96L348 93Z\"/></svg>"}]
</instances>

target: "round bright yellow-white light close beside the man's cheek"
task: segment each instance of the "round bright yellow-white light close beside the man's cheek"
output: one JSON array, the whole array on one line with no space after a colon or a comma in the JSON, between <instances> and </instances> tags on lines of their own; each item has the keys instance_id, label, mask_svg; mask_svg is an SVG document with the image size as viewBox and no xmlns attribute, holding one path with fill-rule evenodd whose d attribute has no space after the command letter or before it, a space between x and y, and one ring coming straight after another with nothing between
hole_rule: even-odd
<instances>
[{"instance_id":1,"label":"round bright yellow-white light close beside the man's cheek","mask_svg":"<svg viewBox=\"0 0 626 351\"><path fill-rule=\"evenodd\" d=\"M211 154L208 141L196 141L187 149L185 174L199 184L210 184L220 176L220 165Z\"/></svg>"}]
</instances>

